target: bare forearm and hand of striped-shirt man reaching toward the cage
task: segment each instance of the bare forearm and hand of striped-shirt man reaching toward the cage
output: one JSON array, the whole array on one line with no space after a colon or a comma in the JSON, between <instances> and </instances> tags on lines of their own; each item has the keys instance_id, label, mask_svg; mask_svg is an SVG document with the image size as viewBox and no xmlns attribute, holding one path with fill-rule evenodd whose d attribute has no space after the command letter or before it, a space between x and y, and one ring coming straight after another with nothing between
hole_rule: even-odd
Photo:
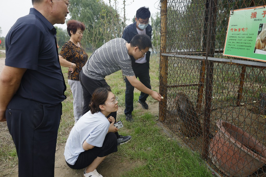
<instances>
[{"instance_id":1,"label":"bare forearm and hand of striped-shirt man reaching toward the cage","mask_svg":"<svg viewBox=\"0 0 266 177\"><path fill-rule=\"evenodd\" d=\"M142 91L146 94L151 95L151 97L157 101L162 100L161 95L158 92L153 91L147 88L146 86L144 86L143 83L141 83L135 76L126 76L126 78L130 82L130 84L136 89L138 89L139 91Z\"/></svg>"}]
</instances>

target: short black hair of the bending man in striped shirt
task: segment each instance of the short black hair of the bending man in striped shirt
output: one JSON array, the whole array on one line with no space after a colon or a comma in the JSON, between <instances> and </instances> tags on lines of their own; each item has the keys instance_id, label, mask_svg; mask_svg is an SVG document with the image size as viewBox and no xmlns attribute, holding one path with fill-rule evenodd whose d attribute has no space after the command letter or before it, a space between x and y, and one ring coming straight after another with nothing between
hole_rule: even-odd
<instances>
[{"instance_id":1,"label":"short black hair of the bending man in striped shirt","mask_svg":"<svg viewBox=\"0 0 266 177\"><path fill-rule=\"evenodd\" d=\"M146 47L151 48L151 38L146 34L137 34L130 41L131 47L139 47L140 50L146 49Z\"/></svg>"}]
</instances>

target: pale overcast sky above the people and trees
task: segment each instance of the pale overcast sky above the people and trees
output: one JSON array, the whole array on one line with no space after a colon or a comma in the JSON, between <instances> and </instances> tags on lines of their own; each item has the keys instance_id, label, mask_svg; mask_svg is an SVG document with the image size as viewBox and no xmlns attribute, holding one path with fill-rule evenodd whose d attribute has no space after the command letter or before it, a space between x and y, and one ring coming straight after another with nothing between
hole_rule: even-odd
<instances>
[{"instance_id":1,"label":"pale overcast sky above the people and trees","mask_svg":"<svg viewBox=\"0 0 266 177\"><path fill-rule=\"evenodd\" d=\"M109 0L104 1L109 3ZM117 2L118 10L121 11L123 7L123 0L118 0ZM0 5L0 27L2 28L1 36L6 36L16 20L19 17L27 15L32 7L31 0L1 0ZM127 24L132 23L131 19L134 15L136 15L136 11L143 6L149 7L151 14L160 12L160 0L126 0L126 16L129 19ZM66 29L66 24L55 24L55 26Z\"/></svg>"}]
</instances>

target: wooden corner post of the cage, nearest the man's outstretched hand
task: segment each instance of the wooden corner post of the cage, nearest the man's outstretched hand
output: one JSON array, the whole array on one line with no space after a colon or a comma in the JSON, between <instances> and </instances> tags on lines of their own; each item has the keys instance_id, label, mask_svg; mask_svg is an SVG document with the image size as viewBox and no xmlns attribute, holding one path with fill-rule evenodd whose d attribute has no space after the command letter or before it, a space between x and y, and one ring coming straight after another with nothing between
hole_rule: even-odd
<instances>
[{"instance_id":1,"label":"wooden corner post of the cage, nearest the man's outstretched hand","mask_svg":"<svg viewBox=\"0 0 266 177\"><path fill-rule=\"evenodd\" d=\"M167 0L161 0L161 48L160 48L160 86L159 92L164 97L159 102L159 121L164 120L165 111L167 110L167 73L168 73L168 57L162 56L166 53L167 38Z\"/></svg>"}]
</instances>

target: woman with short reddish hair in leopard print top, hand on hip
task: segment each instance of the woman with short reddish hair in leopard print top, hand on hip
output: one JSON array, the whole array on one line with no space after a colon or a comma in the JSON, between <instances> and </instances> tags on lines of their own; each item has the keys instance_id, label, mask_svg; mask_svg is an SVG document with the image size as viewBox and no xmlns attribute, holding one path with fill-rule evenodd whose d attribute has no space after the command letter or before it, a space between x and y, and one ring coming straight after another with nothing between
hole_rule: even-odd
<instances>
[{"instance_id":1,"label":"woman with short reddish hair in leopard print top, hand on hip","mask_svg":"<svg viewBox=\"0 0 266 177\"><path fill-rule=\"evenodd\" d=\"M80 71L88 60L88 54L81 47L81 39L85 25L76 20L69 20L67 31L70 40L67 41L59 52L60 65L68 67L68 84L73 94L73 108L75 123L82 116L83 90L80 84Z\"/></svg>"}]
</instances>

